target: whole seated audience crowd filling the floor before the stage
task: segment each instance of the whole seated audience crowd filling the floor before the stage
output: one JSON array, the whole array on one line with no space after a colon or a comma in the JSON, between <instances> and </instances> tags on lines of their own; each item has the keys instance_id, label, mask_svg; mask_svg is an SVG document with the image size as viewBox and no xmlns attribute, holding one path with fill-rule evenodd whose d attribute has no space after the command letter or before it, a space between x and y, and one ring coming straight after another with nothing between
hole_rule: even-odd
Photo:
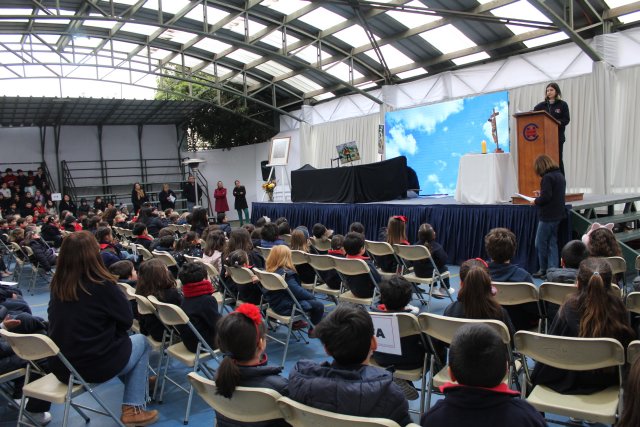
<instances>
[{"instance_id":1,"label":"whole seated audience crowd filling the floor before the stage","mask_svg":"<svg viewBox=\"0 0 640 427\"><path fill-rule=\"evenodd\" d=\"M244 187L236 182L234 196L244 197L243 192ZM238 386L266 387L318 409L388 418L404 426L411 422L408 399L416 399L418 392L412 382L395 378L393 372L421 368L426 355L436 361L431 365L434 370L448 363L452 382L442 387L444 398L423 416L423 426L546 425L543 415L503 383L509 360L492 328L482 323L467 325L458 330L450 345L428 336L405 337L402 354L391 355L378 351L372 318L363 306L340 302L332 308L307 288L306 284L319 278L328 288L349 290L357 298L379 295L372 312L419 313L420 308L411 305L414 294L428 294L428 290L424 285L416 288L396 273L412 268L416 276L429 278L447 271L446 242L437 240L430 224L420 225L414 244L426 247L432 258L405 263L394 255L370 257L361 223L353 223L344 234L338 234L319 223L309 232L306 226L294 226L286 218L271 221L262 217L251 224L245 215L242 226L233 228L225 215L229 208L222 182L216 189L218 214L214 218L197 206L195 190L192 196L193 209L184 214L175 211L176 196L169 186L163 188L159 199L162 209L158 209L149 203L138 183L132 190L133 214L99 197L92 204L82 199L76 205L65 195L56 206L49 198L42 170L27 175L18 170L14 175L8 169L0 189L2 240L7 246L15 243L23 248L13 252L52 275L51 299L45 321L32 316L19 290L0 286L0 318L4 319L0 327L19 333L47 333L87 381L121 378L125 384L121 420L126 425L148 425L158 419L158 412L145 406L147 387L156 378L148 374L150 347L144 335L161 341L165 327L155 315L138 314L136 305L127 301L116 282L127 283L137 295L153 296L184 310L197 335L221 351L216 387L228 398ZM236 199L234 207L239 212L245 206ZM392 216L388 226L380 230L379 240L411 245L407 223L404 216ZM187 225L190 231L179 235L172 227L178 224ZM125 238L123 230L130 230L131 237ZM434 298L451 298L445 316L498 320L511 338L518 330L537 326L537 304L503 307L492 285L534 283L529 272L511 263L516 238L506 228L490 230L484 242L488 259L472 259L461 265L457 295L449 278L433 290ZM137 248L164 252L175 265L168 267L159 258L144 260ZM318 271L316 276L310 264L294 264L292 255L297 252L362 260L370 274L347 276L344 283L335 270ZM562 248L558 266L550 262L544 268L548 280L576 286L575 294L564 304L548 307L553 313L551 334L607 337L623 346L636 338L636 325L614 290L618 278L604 258L617 255L620 248L611 229L592 227L583 241L571 241ZM250 280L239 281L237 273L242 269L249 271ZM0 270L4 277L12 274L4 260ZM266 290L255 274L257 270L282 276L287 289ZM236 310L223 315L214 297L217 292L232 304L237 302ZM282 376L281 368L269 364L266 354L263 304L281 316L296 308L305 313L305 319L295 322L293 329L320 340L331 360L299 360L288 378ZM129 334L134 318L143 335ZM200 338L186 326L179 328L179 334L186 348L195 352ZM634 364L627 378L629 393L639 388L639 364ZM24 365L0 339L0 373ZM66 382L64 366L49 361L44 369ZM581 394L619 382L614 371L575 373L541 363L533 369L531 380L561 393ZM18 381L14 397L20 395ZM640 409L634 401L625 399L619 425L637 425ZM29 399L26 410L43 424L51 419L46 402ZM217 421L220 426L288 425L282 419L243 424L222 414L217 414Z\"/></svg>"}]
</instances>

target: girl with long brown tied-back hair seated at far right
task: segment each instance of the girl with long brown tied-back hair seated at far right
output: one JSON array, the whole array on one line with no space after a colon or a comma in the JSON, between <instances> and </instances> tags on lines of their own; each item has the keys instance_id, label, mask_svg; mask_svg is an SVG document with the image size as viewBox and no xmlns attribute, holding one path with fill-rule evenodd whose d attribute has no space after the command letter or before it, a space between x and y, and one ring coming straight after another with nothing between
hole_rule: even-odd
<instances>
[{"instance_id":1,"label":"girl with long brown tied-back hair seated at far right","mask_svg":"<svg viewBox=\"0 0 640 427\"><path fill-rule=\"evenodd\" d=\"M611 287L611 280L611 265L606 259L582 261L576 279L577 292L560 307L550 335L613 338L626 348L636 334L629 324L620 292ZM616 369L575 372L537 363L532 381L558 393L593 394L618 385L618 374Z\"/></svg>"}]
</instances>

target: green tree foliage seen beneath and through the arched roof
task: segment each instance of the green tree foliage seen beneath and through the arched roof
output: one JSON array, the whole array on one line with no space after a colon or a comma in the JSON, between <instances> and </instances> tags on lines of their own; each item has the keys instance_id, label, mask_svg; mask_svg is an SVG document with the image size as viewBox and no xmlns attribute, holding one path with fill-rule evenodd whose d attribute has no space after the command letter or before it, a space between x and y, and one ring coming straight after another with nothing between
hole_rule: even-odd
<instances>
[{"instance_id":1,"label":"green tree foliage seen beneath and through the arched roof","mask_svg":"<svg viewBox=\"0 0 640 427\"><path fill-rule=\"evenodd\" d=\"M206 85L209 80L203 73L196 73L191 77L192 80L202 81L203 84L175 78L180 75L182 73L179 70L174 70L167 76L158 77L156 99L183 101L197 98L207 102L207 105L197 110L183 124L188 150L256 144L268 141L277 133L277 129L272 125L275 118L271 110L245 101L233 93ZM241 91L239 88L235 89ZM221 105L224 108L221 108ZM249 116L253 120L247 119Z\"/></svg>"}]
</instances>

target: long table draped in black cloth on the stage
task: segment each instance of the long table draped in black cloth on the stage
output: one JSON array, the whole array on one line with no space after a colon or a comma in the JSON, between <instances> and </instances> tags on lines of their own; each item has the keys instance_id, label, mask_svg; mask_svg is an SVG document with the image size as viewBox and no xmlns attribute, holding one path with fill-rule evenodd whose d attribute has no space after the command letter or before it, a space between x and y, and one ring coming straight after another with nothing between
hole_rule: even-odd
<instances>
[{"instance_id":1,"label":"long table draped in black cloth on the stage","mask_svg":"<svg viewBox=\"0 0 640 427\"><path fill-rule=\"evenodd\" d=\"M291 201L367 203L404 198L407 158L333 169L291 172Z\"/></svg>"}]
</instances>

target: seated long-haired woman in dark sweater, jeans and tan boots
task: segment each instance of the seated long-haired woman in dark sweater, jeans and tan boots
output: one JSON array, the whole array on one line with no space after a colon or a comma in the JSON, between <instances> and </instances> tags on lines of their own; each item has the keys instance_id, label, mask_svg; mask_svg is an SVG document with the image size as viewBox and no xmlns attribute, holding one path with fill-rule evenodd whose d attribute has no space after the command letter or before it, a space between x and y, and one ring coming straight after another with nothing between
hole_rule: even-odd
<instances>
[{"instance_id":1,"label":"seated long-haired woman in dark sweater, jeans and tan boots","mask_svg":"<svg viewBox=\"0 0 640 427\"><path fill-rule=\"evenodd\" d=\"M78 231L65 237L51 280L49 337L85 381L119 377L124 382L120 420L146 426L158 419L158 411L145 410L151 347L144 335L129 336L131 304L116 280L93 234ZM66 384L69 371L58 359L49 359L49 368Z\"/></svg>"}]
</instances>

